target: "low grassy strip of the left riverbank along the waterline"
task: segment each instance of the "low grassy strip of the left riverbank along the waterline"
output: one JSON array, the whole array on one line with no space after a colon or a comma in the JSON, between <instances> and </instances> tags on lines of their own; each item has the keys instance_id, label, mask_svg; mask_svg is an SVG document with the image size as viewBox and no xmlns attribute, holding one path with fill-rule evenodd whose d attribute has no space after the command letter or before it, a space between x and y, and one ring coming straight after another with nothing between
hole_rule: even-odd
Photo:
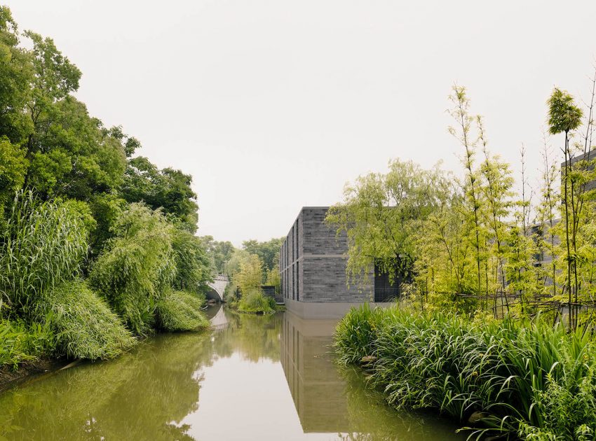
<instances>
[{"instance_id":1,"label":"low grassy strip of the left riverbank along the waterline","mask_svg":"<svg viewBox=\"0 0 596 441\"><path fill-rule=\"evenodd\" d=\"M156 333L210 327L201 311L204 298L189 293L172 291L163 295L154 311L154 328L142 336L132 335L107 305L99 299L95 301L101 309L72 301L62 307L65 318L48 316L44 324L0 321L0 391L15 381L55 370L73 360L116 358ZM57 328L55 323L62 326Z\"/></svg>"}]
</instances>

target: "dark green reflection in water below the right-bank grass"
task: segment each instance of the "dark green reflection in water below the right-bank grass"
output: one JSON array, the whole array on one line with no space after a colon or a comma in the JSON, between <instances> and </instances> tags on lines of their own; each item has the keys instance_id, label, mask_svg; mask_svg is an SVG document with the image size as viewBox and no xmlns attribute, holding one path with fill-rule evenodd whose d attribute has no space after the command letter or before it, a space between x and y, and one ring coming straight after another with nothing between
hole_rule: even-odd
<instances>
[{"instance_id":1,"label":"dark green reflection in water below the right-bank grass","mask_svg":"<svg viewBox=\"0 0 596 441\"><path fill-rule=\"evenodd\" d=\"M346 441L465 440L447 421L428 414L398 412L386 405L383 395L366 384L355 367L338 368L346 381L347 411L352 433L339 434ZM449 433L452 436L449 436Z\"/></svg>"}]
</instances>

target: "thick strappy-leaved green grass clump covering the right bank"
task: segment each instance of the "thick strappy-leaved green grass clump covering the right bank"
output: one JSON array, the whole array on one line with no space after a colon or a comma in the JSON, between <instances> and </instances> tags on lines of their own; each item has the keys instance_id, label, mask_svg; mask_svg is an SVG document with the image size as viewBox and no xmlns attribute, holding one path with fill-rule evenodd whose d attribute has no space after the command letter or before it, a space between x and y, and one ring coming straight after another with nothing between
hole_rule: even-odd
<instances>
[{"instance_id":1,"label":"thick strappy-leaved green grass clump covering the right bank","mask_svg":"<svg viewBox=\"0 0 596 441\"><path fill-rule=\"evenodd\" d=\"M470 437L592 440L596 347L557 325L352 309L334 336L339 363L365 358L395 407L438 409L475 426Z\"/></svg>"}]
</instances>

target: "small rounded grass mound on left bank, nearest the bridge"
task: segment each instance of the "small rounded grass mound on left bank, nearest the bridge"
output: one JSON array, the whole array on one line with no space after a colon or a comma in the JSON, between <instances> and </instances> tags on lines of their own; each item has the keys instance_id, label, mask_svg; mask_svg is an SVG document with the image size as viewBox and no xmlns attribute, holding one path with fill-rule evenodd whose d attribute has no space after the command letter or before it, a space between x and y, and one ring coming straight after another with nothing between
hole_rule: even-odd
<instances>
[{"instance_id":1,"label":"small rounded grass mound on left bank, nearest the bridge","mask_svg":"<svg viewBox=\"0 0 596 441\"><path fill-rule=\"evenodd\" d=\"M157 302L157 326L173 331L208 328L210 323L201 311L203 299L184 291L169 291Z\"/></svg>"}]
</instances>

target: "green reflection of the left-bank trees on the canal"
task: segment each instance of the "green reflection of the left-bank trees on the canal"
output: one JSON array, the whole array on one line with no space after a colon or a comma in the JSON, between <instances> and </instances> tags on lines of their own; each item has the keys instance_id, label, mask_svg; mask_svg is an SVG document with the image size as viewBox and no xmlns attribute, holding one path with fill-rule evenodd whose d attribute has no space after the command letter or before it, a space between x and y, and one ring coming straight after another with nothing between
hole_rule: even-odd
<instances>
[{"instance_id":1,"label":"green reflection of the left-bank trees on the canal","mask_svg":"<svg viewBox=\"0 0 596 441\"><path fill-rule=\"evenodd\" d=\"M221 332L163 334L116 360L86 363L0 395L0 439L191 440L201 368L234 352L279 359L279 317L226 313Z\"/></svg>"}]
</instances>

